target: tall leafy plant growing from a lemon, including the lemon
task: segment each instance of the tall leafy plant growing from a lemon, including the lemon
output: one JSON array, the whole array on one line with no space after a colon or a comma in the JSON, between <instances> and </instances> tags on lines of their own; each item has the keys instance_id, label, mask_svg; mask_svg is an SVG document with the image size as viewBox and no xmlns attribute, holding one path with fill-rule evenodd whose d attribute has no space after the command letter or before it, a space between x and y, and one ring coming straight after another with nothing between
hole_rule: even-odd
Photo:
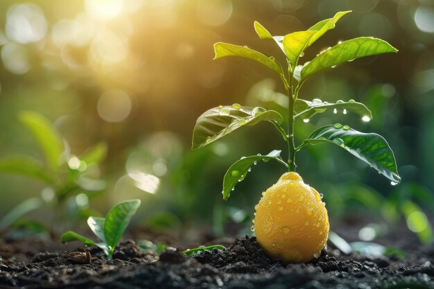
<instances>
[{"instance_id":1,"label":"tall leafy plant growing from a lemon, including the lemon","mask_svg":"<svg viewBox=\"0 0 434 289\"><path fill-rule=\"evenodd\" d=\"M263 198L255 207L254 226L257 240L268 255L286 262L309 261L320 256L320 251L327 243L329 220L322 202L322 195L309 185L304 184L300 175L295 173L295 155L302 148L317 143L331 143L358 159L365 161L372 168L387 177L391 184L397 184L397 164L388 143L379 134L358 132L348 125L326 125L318 128L311 135L295 146L294 125L297 119L304 123L316 114L333 111L334 114L354 112L362 121L370 121L372 114L362 103L355 100L338 100L336 103L315 98L304 100L299 92L306 80L325 69L351 62L357 58L381 53L396 53L397 49L383 40L373 37L358 37L339 42L333 47L320 51L311 61L300 64L304 51L324 33L335 27L336 22L351 11L338 12L330 19L324 19L306 31L298 31L285 36L272 36L257 21L254 29L261 39L270 39L279 46L286 56L287 67L274 57L254 51L247 46L238 46L218 42L214 44L214 59L236 56L254 60L271 69L279 76L288 96L288 126L281 125L284 118L278 112L264 107L245 107L238 104L219 105L202 114L193 130L193 149L202 148L217 139L247 125L256 125L268 121L277 129L288 143L288 160L284 161L281 150L273 150L268 155L242 157L225 173L223 179L223 199L227 200L238 182L250 172L259 161L273 159L282 164L288 173L281 176L277 184L263 193ZM301 125L302 123L300 123ZM299 125L297 123L297 125Z\"/></svg>"}]
</instances>

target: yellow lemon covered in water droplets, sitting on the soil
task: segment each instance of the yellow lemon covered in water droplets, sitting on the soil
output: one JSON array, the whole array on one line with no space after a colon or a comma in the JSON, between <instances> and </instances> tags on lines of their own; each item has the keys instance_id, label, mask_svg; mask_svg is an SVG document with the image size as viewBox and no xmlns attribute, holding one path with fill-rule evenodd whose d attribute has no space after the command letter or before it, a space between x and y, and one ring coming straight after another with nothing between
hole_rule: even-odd
<instances>
[{"instance_id":1,"label":"yellow lemon covered in water droplets, sitting on the soil","mask_svg":"<svg viewBox=\"0 0 434 289\"><path fill-rule=\"evenodd\" d=\"M297 173L285 173L255 209L259 245L271 259L301 263L318 258L329 236L329 217L318 191Z\"/></svg>"}]
</instances>

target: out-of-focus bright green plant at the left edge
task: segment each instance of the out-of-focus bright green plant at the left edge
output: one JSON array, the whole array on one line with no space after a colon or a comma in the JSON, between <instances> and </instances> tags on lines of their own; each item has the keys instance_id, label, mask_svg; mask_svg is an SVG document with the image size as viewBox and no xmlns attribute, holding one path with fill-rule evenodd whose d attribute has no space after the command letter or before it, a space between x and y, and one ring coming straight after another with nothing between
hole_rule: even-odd
<instances>
[{"instance_id":1,"label":"out-of-focus bright green plant at the left edge","mask_svg":"<svg viewBox=\"0 0 434 289\"><path fill-rule=\"evenodd\" d=\"M0 159L0 173L37 179L44 183L45 188L40 196L24 200L10 210L0 220L0 231L10 227L26 213L46 205L55 206L54 211L62 221L89 216L87 198L105 191L105 182L94 178L92 174L92 168L96 168L107 154L105 143L98 143L77 157L69 153L67 141L45 116L37 112L22 111L18 118L31 132L44 159L30 156ZM69 198L81 200L74 202L75 211L71 210L71 206L64 206ZM64 210L64 207L67 207L67 210ZM65 211L67 216L64 216Z\"/></svg>"}]
</instances>

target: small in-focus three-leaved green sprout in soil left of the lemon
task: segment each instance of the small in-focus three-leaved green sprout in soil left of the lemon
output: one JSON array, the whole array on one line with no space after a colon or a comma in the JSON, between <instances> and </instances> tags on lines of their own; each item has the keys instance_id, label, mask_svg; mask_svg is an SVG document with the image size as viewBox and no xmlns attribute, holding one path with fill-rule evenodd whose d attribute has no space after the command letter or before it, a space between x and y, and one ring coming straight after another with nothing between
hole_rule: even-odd
<instances>
[{"instance_id":1,"label":"small in-focus three-leaved green sprout in soil left of the lemon","mask_svg":"<svg viewBox=\"0 0 434 289\"><path fill-rule=\"evenodd\" d=\"M71 240L80 240L86 245L96 246L103 249L108 259L112 259L114 248L121 239L121 236L127 229L130 219L139 209L140 200L126 200L115 204L107 213L105 218L89 217L87 225L94 232L101 242L96 243L94 240L86 238L73 231L67 231L60 237L60 240L69 242Z\"/></svg>"}]
</instances>

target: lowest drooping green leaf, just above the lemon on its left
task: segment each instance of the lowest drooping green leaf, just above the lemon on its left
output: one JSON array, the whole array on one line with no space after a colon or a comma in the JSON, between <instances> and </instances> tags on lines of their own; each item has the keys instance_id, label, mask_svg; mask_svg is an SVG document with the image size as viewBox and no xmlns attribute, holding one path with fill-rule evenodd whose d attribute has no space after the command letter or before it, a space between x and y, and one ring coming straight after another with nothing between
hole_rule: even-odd
<instances>
[{"instance_id":1,"label":"lowest drooping green leaf, just above the lemon on its left","mask_svg":"<svg viewBox=\"0 0 434 289\"><path fill-rule=\"evenodd\" d=\"M281 159L280 152L281 150L272 150L268 155L259 154L250 157L241 157L241 159L234 162L225 173L225 177L223 177L223 200L229 198L235 185L245 178L252 166L257 164L257 161L269 161L270 159L275 159L276 161L279 161L279 163L284 164L284 166L287 166L287 164Z\"/></svg>"}]
</instances>

